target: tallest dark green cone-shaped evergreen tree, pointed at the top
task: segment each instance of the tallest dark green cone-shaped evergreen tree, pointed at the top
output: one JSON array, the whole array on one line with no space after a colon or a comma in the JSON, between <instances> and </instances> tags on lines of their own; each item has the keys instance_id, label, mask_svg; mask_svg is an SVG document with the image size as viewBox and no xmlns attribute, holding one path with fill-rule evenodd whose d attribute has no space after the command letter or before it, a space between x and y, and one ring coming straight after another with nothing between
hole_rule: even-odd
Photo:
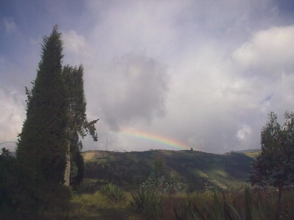
<instances>
[{"instance_id":1,"label":"tallest dark green cone-shaped evergreen tree, pointed at the top","mask_svg":"<svg viewBox=\"0 0 294 220\"><path fill-rule=\"evenodd\" d=\"M28 95L26 120L19 134L17 158L48 182L64 181L68 97L62 73L63 43L57 25L44 36L41 61Z\"/></svg>"}]
</instances>

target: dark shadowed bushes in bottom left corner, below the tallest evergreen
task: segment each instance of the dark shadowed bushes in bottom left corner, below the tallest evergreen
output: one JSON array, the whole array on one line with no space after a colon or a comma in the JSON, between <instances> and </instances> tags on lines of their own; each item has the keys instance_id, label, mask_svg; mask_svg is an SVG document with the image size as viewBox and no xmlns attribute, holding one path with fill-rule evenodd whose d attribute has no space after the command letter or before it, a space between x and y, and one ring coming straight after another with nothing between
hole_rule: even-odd
<instances>
[{"instance_id":1,"label":"dark shadowed bushes in bottom left corner, below the tallest evergreen","mask_svg":"<svg viewBox=\"0 0 294 220\"><path fill-rule=\"evenodd\" d=\"M14 157L0 155L0 219L44 219L68 209L71 190L46 182Z\"/></svg>"}]
</instances>

